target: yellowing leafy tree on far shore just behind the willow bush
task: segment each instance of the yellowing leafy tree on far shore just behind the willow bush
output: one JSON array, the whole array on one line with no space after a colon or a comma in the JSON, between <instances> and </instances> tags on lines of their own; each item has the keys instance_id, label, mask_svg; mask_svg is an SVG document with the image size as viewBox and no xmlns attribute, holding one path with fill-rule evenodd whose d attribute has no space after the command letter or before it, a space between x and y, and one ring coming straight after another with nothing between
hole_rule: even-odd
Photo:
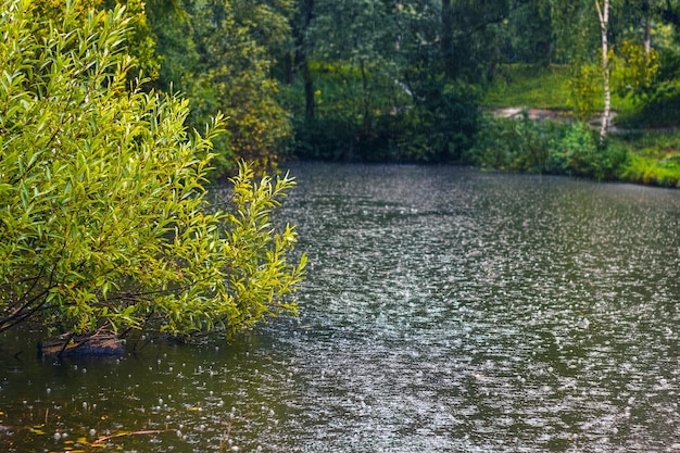
<instances>
[{"instance_id":1,"label":"yellowing leafy tree on far shore just behind the willow bush","mask_svg":"<svg viewBox=\"0 0 680 453\"><path fill-rule=\"evenodd\" d=\"M288 18L264 1L197 0L191 13L202 102L196 114L224 112L230 154L275 164L290 137L290 121L276 97L272 48L290 36Z\"/></svg>"}]
</instances>

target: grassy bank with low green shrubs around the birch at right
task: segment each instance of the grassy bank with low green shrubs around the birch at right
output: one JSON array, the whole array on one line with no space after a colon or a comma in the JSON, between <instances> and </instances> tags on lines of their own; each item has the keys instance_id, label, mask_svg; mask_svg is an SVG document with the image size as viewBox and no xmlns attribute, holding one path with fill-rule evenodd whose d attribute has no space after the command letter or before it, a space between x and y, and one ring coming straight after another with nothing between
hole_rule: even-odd
<instances>
[{"instance_id":1,"label":"grassy bank with low green shrubs around the birch at right","mask_svg":"<svg viewBox=\"0 0 680 453\"><path fill-rule=\"evenodd\" d=\"M521 115L507 119L489 114L468 158L489 168L680 188L680 127L675 127L680 126L680 117L672 114L678 100L662 100L650 111L614 96L616 131L601 143L592 125L569 119L569 77L566 66L501 66L482 102L488 111L551 109L565 121ZM596 109L602 108L600 95L595 95Z\"/></svg>"}]
</instances>

